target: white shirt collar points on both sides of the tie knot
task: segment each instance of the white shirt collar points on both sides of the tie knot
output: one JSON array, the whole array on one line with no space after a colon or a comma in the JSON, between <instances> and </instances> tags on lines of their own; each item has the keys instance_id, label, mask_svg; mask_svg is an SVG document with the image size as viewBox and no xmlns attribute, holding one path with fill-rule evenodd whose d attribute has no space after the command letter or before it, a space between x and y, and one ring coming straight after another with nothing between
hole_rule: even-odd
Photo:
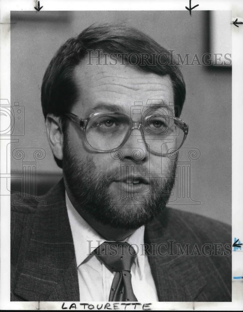
<instances>
[{"instance_id":1,"label":"white shirt collar points on both sides of the tie knot","mask_svg":"<svg viewBox=\"0 0 243 312\"><path fill-rule=\"evenodd\" d=\"M83 217L80 216L77 210L73 207L66 192L65 197L67 214L73 237L76 263L77 266L80 266L90 255L90 253L106 240L98 232L96 232ZM137 252L135 263L139 267L141 274L144 271L144 252L142 247L144 244L144 226L138 228L129 237L127 237L125 241L132 245L134 250L137 249L135 250Z\"/></svg>"}]
</instances>

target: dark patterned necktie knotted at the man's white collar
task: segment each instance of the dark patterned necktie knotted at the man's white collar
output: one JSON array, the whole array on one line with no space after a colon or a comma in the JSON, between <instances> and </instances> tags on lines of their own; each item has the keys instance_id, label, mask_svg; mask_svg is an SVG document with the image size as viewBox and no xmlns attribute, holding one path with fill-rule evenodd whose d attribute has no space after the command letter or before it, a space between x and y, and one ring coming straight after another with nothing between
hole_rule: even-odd
<instances>
[{"instance_id":1,"label":"dark patterned necktie knotted at the man's white collar","mask_svg":"<svg viewBox=\"0 0 243 312\"><path fill-rule=\"evenodd\" d=\"M131 265L135 258L132 246L125 242L105 241L95 250L95 255L116 272L109 301L137 301L131 284Z\"/></svg>"}]
</instances>

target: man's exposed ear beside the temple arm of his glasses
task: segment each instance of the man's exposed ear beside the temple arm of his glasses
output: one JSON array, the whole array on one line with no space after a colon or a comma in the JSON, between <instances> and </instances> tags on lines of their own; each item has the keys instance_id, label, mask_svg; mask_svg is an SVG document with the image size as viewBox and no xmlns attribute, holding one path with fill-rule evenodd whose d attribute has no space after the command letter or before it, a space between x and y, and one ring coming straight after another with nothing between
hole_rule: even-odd
<instances>
[{"instance_id":1,"label":"man's exposed ear beside the temple arm of his glasses","mask_svg":"<svg viewBox=\"0 0 243 312\"><path fill-rule=\"evenodd\" d=\"M46 117L47 137L54 156L62 160L63 132L59 117L53 114L47 114Z\"/></svg>"}]
</instances>

